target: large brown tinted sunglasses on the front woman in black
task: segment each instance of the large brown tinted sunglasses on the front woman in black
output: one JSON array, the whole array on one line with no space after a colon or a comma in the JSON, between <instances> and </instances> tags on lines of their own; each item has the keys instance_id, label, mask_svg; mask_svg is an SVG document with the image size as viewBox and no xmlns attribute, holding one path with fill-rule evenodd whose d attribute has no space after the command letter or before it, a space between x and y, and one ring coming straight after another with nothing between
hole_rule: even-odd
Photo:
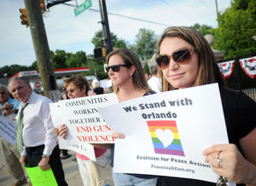
<instances>
[{"instance_id":1,"label":"large brown tinted sunglasses on the front woman in black","mask_svg":"<svg viewBox=\"0 0 256 186\"><path fill-rule=\"evenodd\" d=\"M169 66L171 59L177 63L188 61L191 53L195 51L196 49L178 49L172 55L158 55L155 61L161 68L166 68Z\"/></svg>"}]
</instances>

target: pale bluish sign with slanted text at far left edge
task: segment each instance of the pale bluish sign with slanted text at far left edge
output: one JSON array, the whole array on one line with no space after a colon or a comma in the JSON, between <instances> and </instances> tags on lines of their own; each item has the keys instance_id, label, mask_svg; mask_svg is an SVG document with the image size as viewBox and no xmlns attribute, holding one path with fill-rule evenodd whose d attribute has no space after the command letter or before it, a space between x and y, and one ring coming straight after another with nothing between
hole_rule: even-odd
<instances>
[{"instance_id":1,"label":"pale bluish sign with slanted text at far left edge","mask_svg":"<svg viewBox=\"0 0 256 186\"><path fill-rule=\"evenodd\" d=\"M15 114L6 117L3 115L0 116L0 136L12 145L16 144L16 127Z\"/></svg>"}]
</instances>

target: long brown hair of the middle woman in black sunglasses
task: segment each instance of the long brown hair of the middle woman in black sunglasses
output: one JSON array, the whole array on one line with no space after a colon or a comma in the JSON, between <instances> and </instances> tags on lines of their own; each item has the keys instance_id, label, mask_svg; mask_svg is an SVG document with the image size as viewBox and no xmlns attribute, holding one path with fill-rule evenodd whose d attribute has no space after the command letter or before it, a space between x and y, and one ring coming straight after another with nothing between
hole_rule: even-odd
<instances>
[{"instance_id":1,"label":"long brown hair of the middle woman in black sunglasses","mask_svg":"<svg viewBox=\"0 0 256 186\"><path fill-rule=\"evenodd\" d=\"M133 65L136 71L132 74L132 82L139 90L149 90L148 83L143 73L143 67L137 54L131 49L116 49L108 54L107 65L109 58L113 55L120 55L126 65ZM113 92L118 92L118 87L113 87Z\"/></svg>"}]
</instances>

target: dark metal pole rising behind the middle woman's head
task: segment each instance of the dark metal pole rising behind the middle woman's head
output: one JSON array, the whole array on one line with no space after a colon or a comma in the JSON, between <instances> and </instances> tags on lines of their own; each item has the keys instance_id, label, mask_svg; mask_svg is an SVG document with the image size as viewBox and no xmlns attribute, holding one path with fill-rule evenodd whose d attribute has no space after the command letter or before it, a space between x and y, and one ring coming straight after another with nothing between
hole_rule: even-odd
<instances>
[{"instance_id":1,"label":"dark metal pole rising behind the middle woman's head","mask_svg":"<svg viewBox=\"0 0 256 186\"><path fill-rule=\"evenodd\" d=\"M102 16L102 31L104 36L104 43L106 45L106 55L108 55L113 50L111 43L111 35L108 26L108 13L105 0L99 0L99 3Z\"/></svg>"}]
</instances>

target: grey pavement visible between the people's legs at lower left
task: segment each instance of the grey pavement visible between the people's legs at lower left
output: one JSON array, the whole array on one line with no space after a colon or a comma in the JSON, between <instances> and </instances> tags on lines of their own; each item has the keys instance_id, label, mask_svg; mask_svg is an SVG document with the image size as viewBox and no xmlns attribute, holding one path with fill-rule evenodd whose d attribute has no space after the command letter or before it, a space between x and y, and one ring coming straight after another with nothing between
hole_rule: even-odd
<instances>
[{"instance_id":1,"label":"grey pavement visible between the people's legs at lower left","mask_svg":"<svg viewBox=\"0 0 256 186\"><path fill-rule=\"evenodd\" d=\"M66 160L61 160L67 184L70 186L83 186L76 154L73 151L68 151L68 154L72 156ZM11 186L13 183L15 183L15 178L9 175L3 157L0 156L0 186ZM28 183L22 186L28 186Z\"/></svg>"}]
</instances>

